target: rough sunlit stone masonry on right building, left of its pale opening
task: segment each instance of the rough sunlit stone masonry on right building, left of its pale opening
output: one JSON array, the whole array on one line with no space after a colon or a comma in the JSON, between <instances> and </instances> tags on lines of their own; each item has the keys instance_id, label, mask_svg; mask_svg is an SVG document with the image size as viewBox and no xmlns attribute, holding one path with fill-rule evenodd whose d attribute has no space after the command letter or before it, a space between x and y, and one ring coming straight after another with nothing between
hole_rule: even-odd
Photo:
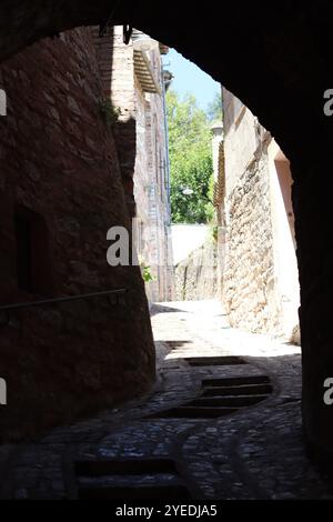
<instances>
[{"instance_id":1,"label":"rough sunlit stone masonry on right building, left of its pale opening","mask_svg":"<svg viewBox=\"0 0 333 522\"><path fill-rule=\"evenodd\" d=\"M266 151L241 175L228 198L228 209L223 301L230 323L253 332L278 333Z\"/></svg>"}]
</instances>

